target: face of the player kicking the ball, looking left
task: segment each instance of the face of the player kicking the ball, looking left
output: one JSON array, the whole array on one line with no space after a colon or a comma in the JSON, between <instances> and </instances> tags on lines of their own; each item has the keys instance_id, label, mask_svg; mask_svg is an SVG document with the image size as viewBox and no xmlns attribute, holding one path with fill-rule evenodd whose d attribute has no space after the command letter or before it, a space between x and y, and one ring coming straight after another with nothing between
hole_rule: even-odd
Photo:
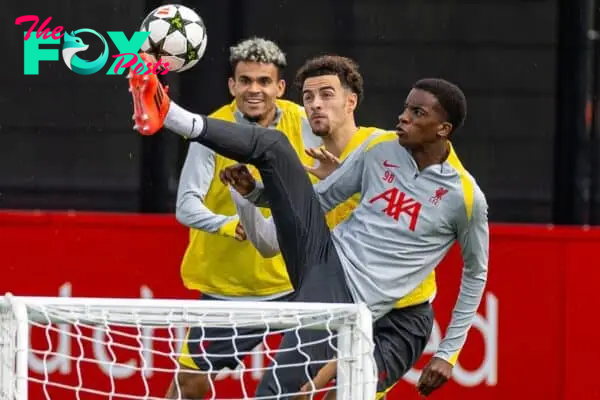
<instances>
[{"instance_id":1,"label":"face of the player kicking the ball, looking left","mask_svg":"<svg viewBox=\"0 0 600 400\"><path fill-rule=\"evenodd\" d=\"M452 125L446 121L445 114L433 94L411 90L404 111L398 116L398 141L404 147L417 149L448 136Z\"/></svg>"}]
</instances>

